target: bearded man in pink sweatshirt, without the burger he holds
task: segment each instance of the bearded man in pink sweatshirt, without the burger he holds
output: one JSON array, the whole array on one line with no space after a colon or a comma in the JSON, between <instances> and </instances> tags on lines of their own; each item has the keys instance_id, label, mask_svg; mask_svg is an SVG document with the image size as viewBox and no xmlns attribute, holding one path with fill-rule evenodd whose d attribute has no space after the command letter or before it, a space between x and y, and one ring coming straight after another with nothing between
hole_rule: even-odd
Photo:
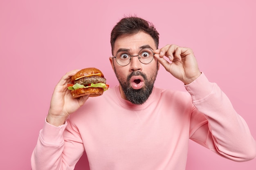
<instances>
[{"instance_id":1,"label":"bearded man in pink sweatshirt, without the burger he holds","mask_svg":"<svg viewBox=\"0 0 256 170\"><path fill-rule=\"evenodd\" d=\"M184 170L189 139L234 161L254 159L246 122L200 72L191 49L158 49L158 32L137 17L120 20L110 42L119 86L74 99L66 86L78 70L64 75L32 154L32 170L72 170L84 151L91 170ZM188 93L155 88L159 64Z\"/></svg>"}]
</instances>

